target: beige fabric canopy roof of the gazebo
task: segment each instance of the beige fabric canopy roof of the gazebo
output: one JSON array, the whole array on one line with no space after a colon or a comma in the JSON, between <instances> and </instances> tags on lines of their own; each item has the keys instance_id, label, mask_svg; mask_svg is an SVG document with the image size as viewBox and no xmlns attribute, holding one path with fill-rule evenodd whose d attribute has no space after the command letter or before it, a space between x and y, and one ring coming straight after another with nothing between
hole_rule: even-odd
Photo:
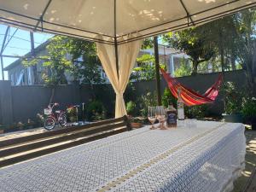
<instances>
[{"instance_id":1,"label":"beige fabric canopy roof of the gazebo","mask_svg":"<svg viewBox=\"0 0 256 192\"><path fill-rule=\"evenodd\" d=\"M0 22L10 26L123 44L201 25L252 8L256 0L0 0L0 5ZM121 38L130 33L137 37Z\"/></svg>"}]
</instances>

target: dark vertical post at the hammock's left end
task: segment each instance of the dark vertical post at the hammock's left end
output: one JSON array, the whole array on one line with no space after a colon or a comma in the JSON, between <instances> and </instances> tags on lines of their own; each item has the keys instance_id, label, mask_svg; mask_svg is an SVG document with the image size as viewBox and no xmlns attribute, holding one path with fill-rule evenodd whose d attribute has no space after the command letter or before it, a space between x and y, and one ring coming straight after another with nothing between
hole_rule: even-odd
<instances>
[{"instance_id":1,"label":"dark vertical post at the hammock's left end","mask_svg":"<svg viewBox=\"0 0 256 192\"><path fill-rule=\"evenodd\" d=\"M157 104L161 105L161 92L160 92L160 65L159 65L159 51L158 51L158 37L154 37L154 61L155 61L155 80L157 92Z\"/></svg>"}]
</instances>

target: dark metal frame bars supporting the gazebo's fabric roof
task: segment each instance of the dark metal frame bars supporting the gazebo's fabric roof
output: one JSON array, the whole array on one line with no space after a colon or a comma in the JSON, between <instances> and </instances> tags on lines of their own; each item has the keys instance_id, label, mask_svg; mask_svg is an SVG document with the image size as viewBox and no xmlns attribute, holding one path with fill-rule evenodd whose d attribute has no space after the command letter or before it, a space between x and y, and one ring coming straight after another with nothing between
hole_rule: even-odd
<instances>
[{"instance_id":1,"label":"dark metal frame bars supporting the gazebo's fabric roof","mask_svg":"<svg viewBox=\"0 0 256 192\"><path fill-rule=\"evenodd\" d=\"M114 1L114 9L116 9L116 0L113 0ZM26 29L28 30L32 30L32 31L39 31L39 32L49 32L49 33L53 33L53 34L59 34L59 35L65 35L65 36L71 36L71 37L74 37L74 38L83 38L85 40L89 40L89 41L94 41L94 42L98 42L98 43L103 43L103 44L112 44L112 45L115 45L116 43L117 44L125 44L125 43L128 43L128 42L131 42L131 41L136 41L136 40L140 40L140 39L143 39L143 38L148 38L150 36L155 36L155 35L159 35L160 33L163 33L163 32L170 32L170 31L176 31L176 30L181 30L183 28L187 28L188 26L195 26L195 25L199 25L199 24L202 24L204 22L207 22L207 21L211 21L211 20L216 20L218 18L221 18L221 17L224 17L226 15L232 15L234 14L236 11L239 11L239 10L243 10L243 9L249 9L249 8L253 8L256 6L256 3L248 3L246 5L243 5L243 6L240 6L240 7L237 7L236 9L230 9L229 11L224 11L222 13L218 13L216 15L212 15L212 16L208 16L208 17L205 17L201 20L193 20L192 17L195 16L195 15L199 15L199 14L202 14L202 13L205 13L207 11L210 11L210 10L214 10L214 9L219 9L221 7L224 7L226 5L230 5L232 3L236 3L236 2L239 2L241 0L234 0L232 2L227 2L227 3L224 3L224 4L221 4L221 5L218 5L218 6L215 6L211 9L205 9L205 10L202 10L200 12L197 12L193 15L190 15L189 12L188 12L188 9L185 7L185 4L183 3L182 0L180 0L180 3L182 4L183 6L183 9L185 10L186 12L186 16L183 17L183 18L179 18L179 19L176 19L176 20L170 20L170 21L167 21L165 23L162 23L162 24L159 24L159 25L155 25L155 26L149 26L147 28L144 28L144 29L141 29L141 30L138 30L136 32L129 32L129 34L131 33L137 33L137 32L143 32L143 31L146 31L148 29L152 29L154 27L157 27L157 26L165 26L167 24L171 24L173 22L176 22L178 20L184 20L184 19L187 19L187 23L185 24L182 24L182 25L178 25L178 26L172 26L172 27L167 27L163 30L159 30L159 31L156 31L156 32L149 32L147 34L144 34L144 35L141 35L141 36L137 36L137 38L130 38L130 39L127 39L127 40L123 40L123 41L118 41L118 39L122 36L125 36L125 35L122 35L122 36L118 36L116 31L115 31L115 34L114 36L111 36L111 35L107 35L107 34L102 34L102 33L99 33L99 32L92 32L92 31L86 31L84 29L81 29L81 28L78 28L78 27L73 27L73 26L65 26L65 25L61 25L61 24L57 24L55 22L49 22L47 20L44 20L44 14L45 12L47 11L47 9L49 8L49 4L52 2L52 0L49 0L48 3L45 5L45 8L44 8L44 11L42 13L42 15L40 16L40 18L33 18L31 16L27 16L27 15L21 15L19 13L15 13L13 11L10 11L10 10L7 10L7 9L0 9L1 11L3 12L6 12L6 13L9 13L9 14L13 14L13 15L18 15L20 17L24 17L24 18L27 18L27 19L30 19L30 20L35 20L35 21L38 21L37 22L37 25L34 26L34 25L31 25L31 24L27 24L27 23L24 23L24 22L20 22L20 21L17 21L17 20L10 20L10 19L7 19L7 18L3 18L3 17L0 17L0 21L3 22L3 23L6 23L8 25L14 25L14 26L20 26L20 27L25 27ZM115 15L114 17L116 18L116 10L114 11ZM116 23L116 19L114 20L114 22ZM39 26L39 24L41 23L41 26ZM98 39L98 38L90 38L88 36L81 36L81 35L78 35L78 34L74 34L74 33L70 33L70 32L61 32L61 31L57 31L57 30L53 30L53 29L48 29L48 28L45 28L43 26L43 24L46 23L46 24L49 24L49 25L53 25L53 26L61 26L61 27L65 27L67 29L73 29L73 30L77 30L78 32L88 32L90 34L95 34L95 35L102 35L104 38L113 38L113 41L111 40L102 40L102 39ZM116 27L116 26L115 26ZM116 30L116 28L115 28ZM115 39L116 38L116 39ZM115 42L117 41L117 42Z\"/></svg>"}]
</instances>

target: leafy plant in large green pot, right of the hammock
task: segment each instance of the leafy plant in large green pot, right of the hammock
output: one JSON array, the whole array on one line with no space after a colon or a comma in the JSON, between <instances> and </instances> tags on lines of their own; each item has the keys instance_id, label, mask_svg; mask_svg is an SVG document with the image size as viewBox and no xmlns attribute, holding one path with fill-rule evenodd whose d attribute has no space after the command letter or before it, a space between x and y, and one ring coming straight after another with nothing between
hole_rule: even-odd
<instances>
[{"instance_id":1,"label":"leafy plant in large green pot, right of the hammock","mask_svg":"<svg viewBox=\"0 0 256 192\"><path fill-rule=\"evenodd\" d=\"M241 123L241 102L242 94L241 90L239 91L234 82L226 82L222 91L224 93L224 111L223 117L227 122Z\"/></svg>"}]
</instances>

